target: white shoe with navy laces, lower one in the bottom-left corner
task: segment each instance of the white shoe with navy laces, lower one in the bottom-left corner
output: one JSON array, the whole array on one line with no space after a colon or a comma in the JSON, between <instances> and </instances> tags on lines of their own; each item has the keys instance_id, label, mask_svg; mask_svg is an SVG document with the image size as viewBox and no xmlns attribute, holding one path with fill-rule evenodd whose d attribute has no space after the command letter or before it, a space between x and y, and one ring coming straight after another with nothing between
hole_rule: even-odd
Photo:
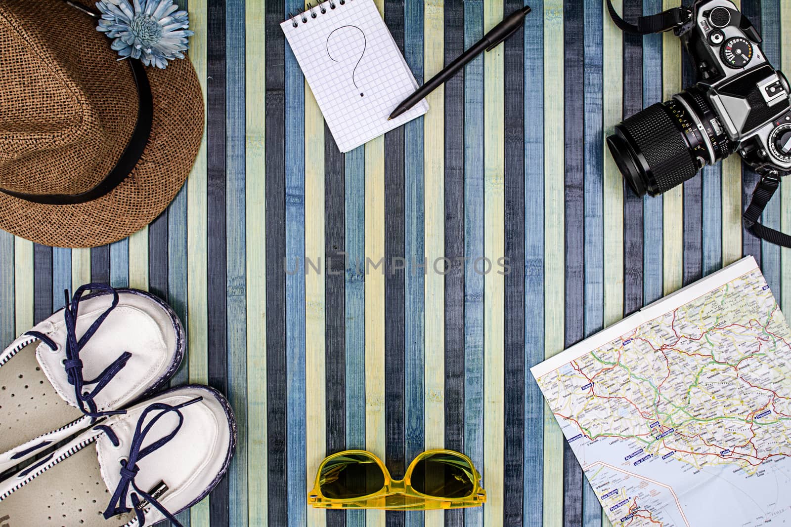
<instances>
[{"instance_id":1,"label":"white shoe with navy laces, lower one in the bottom-left corner","mask_svg":"<svg viewBox=\"0 0 791 527\"><path fill-rule=\"evenodd\" d=\"M12 526L179 525L174 515L218 484L235 442L225 397L180 386L108 416L0 482L0 518Z\"/></svg>"}]
</instances>

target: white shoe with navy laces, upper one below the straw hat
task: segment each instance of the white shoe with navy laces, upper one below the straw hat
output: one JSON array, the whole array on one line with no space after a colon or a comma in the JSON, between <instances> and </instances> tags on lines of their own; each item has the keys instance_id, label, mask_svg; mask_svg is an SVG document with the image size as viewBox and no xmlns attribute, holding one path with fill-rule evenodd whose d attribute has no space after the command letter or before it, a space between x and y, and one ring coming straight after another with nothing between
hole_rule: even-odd
<instances>
[{"instance_id":1,"label":"white shoe with navy laces, upper one below the straw hat","mask_svg":"<svg viewBox=\"0 0 791 527\"><path fill-rule=\"evenodd\" d=\"M179 318L157 297L79 288L0 352L0 473L151 393L184 348Z\"/></svg>"}]
</instances>

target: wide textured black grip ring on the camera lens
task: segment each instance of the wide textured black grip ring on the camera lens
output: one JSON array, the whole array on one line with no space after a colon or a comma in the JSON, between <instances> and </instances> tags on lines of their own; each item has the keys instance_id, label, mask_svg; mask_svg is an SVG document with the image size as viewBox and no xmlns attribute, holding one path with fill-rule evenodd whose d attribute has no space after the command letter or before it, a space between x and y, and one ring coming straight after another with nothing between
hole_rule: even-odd
<instances>
[{"instance_id":1,"label":"wide textured black grip ring on the camera lens","mask_svg":"<svg viewBox=\"0 0 791 527\"><path fill-rule=\"evenodd\" d=\"M649 194L662 194L698 172L697 160L664 104L653 104L619 126L650 167Z\"/></svg>"}]
</instances>

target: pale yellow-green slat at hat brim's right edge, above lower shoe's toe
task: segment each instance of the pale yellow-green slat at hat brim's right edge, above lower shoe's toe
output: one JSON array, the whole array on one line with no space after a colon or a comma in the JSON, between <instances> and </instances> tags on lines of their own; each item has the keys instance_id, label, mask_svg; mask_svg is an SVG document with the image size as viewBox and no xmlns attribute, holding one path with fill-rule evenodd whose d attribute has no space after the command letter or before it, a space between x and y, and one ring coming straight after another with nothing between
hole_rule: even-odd
<instances>
[{"instance_id":1,"label":"pale yellow-green slat at hat brim's right edge, above lower shoe's toe","mask_svg":"<svg viewBox=\"0 0 791 527\"><path fill-rule=\"evenodd\" d=\"M190 0L190 60L198 73L206 107L206 0ZM132 247L130 240L130 282ZM206 311L206 127L198 156L187 179L187 352L190 382L209 383L208 316ZM209 498L193 506L191 527L209 527Z\"/></svg>"}]
</instances>

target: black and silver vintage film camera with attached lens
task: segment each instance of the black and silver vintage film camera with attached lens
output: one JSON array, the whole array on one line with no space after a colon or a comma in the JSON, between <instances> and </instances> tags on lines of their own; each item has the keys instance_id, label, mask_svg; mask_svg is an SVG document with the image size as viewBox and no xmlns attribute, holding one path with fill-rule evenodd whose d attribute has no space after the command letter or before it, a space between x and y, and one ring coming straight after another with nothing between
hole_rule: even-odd
<instances>
[{"instance_id":1,"label":"black and silver vintage film camera with attached lens","mask_svg":"<svg viewBox=\"0 0 791 527\"><path fill-rule=\"evenodd\" d=\"M698 82L607 137L626 182L656 196L733 152L763 175L791 171L791 89L763 55L759 32L729 0L676 9L673 30Z\"/></svg>"}]
</instances>

